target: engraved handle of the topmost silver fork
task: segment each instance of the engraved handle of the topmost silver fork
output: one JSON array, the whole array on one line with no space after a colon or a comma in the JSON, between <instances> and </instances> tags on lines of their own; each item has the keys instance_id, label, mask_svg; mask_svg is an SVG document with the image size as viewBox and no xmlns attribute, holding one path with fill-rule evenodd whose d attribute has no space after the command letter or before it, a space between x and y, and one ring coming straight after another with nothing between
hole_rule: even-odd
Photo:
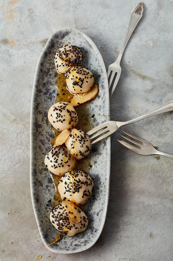
<instances>
[{"instance_id":1,"label":"engraved handle of the topmost silver fork","mask_svg":"<svg viewBox=\"0 0 173 261\"><path fill-rule=\"evenodd\" d=\"M143 3L137 4L134 7L134 9L131 11L130 22L129 22L129 28L128 28L128 31L127 31L127 35L126 35L124 44L123 44L123 46L121 48L121 52L120 52L120 54L119 54L119 56L117 58L117 60L119 60L119 62L121 61L121 57L123 55L125 46L127 45L132 32L134 31L135 27L137 26L139 20L141 19L142 15L143 15L143 11L144 11Z\"/></svg>"}]
</instances>

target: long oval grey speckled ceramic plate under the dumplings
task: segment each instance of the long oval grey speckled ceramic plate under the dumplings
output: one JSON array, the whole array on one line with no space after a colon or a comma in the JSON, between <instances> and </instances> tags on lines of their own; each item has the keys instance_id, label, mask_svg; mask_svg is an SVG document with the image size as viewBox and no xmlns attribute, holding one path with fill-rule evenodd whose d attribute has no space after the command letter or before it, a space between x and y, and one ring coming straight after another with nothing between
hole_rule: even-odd
<instances>
[{"instance_id":1,"label":"long oval grey speckled ceramic plate under the dumplings","mask_svg":"<svg viewBox=\"0 0 173 261\"><path fill-rule=\"evenodd\" d=\"M99 87L95 99L81 105L81 110L82 106L88 109L85 125L87 126L89 121L87 119L90 119L93 114L95 117L90 124L92 127L110 120L107 73L96 45L86 34L75 28L62 28L55 32L46 43L37 63L30 122L31 197L44 245L51 242L58 234L49 220L52 209L51 198L54 196L55 189L49 171L44 165L44 157L50 151L50 140L53 135L47 113L51 105L55 103L57 94L54 54L60 46L65 44L74 44L81 48L83 66L94 73L95 83ZM88 130L86 127L84 131ZM84 251L95 244L102 232L109 198L110 137L93 145L90 162L92 168L89 170L89 175L94 181L95 191L85 210L89 218L88 227L81 234L72 238L66 236L61 241L50 245L48 249L52 252L69 254Z\"/></svg>"}]
</instances>

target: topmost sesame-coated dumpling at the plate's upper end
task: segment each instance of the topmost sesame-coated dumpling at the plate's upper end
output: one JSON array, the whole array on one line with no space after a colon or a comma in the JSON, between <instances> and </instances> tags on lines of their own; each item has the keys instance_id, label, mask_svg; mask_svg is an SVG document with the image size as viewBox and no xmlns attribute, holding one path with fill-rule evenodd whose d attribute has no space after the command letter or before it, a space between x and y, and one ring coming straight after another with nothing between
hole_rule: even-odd
<instances>
[{"instance_id":1,"label":"topmost sesame-coated dumpling at the plate's upper end","mask_svg":"<svg viewBox=\"0 0 173 261\"><path fill-rule=\"evenodd\" d=\"M66 73L71 66L82 65L82 52L76 45L66 44L55 53L55 67L59 73Z\"/></svg>"}]
</instances>

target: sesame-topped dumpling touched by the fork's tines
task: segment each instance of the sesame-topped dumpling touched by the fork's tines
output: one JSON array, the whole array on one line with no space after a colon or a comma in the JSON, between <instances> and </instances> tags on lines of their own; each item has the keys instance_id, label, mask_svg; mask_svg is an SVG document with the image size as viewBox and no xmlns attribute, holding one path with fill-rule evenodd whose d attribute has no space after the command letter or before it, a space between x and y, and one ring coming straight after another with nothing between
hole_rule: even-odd
<instances>
[{"instance_id":1,"label":"sesame-topped dumpling touched by the fork's tines","mask_svg":"<svg viewBox=\"0 0 173 261\"><path fill-rule=\"evenodd\" d=\"M76 159L86 157L91 151L90 137L81 129L71 129L70 135L65 141L67 149Z\"/></svg>"}]
</instances>

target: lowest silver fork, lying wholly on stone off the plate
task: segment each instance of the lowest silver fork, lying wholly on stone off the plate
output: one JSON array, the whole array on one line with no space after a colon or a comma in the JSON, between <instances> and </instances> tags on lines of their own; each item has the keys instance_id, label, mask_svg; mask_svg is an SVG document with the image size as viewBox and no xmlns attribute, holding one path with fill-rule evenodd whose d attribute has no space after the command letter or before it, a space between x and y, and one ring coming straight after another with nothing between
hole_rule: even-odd
<instances>
[{"instance_id":1,"label":"lowest silver fork, lying wholly on stone off the plate","mask_svg":"<svg viewBox=\"0 0 173 261\"><path fill-rule=\"evenodd\" d=\"M129 142L131 142L132 144L138 146L135 147L127 142L125 142L124 140L118 140L119 143L121 143L122 145L124 145L125 147L127 147L128 149L138 153L138 154L141 154L141 155L154 155L154 154L158 154L158 155L163 155L163 156L166 156L168 158L172 158L173 159L173 156L168 154L168 153L165 153L165 152L161 152L161 151L158 151L156 150L148 141L146 140L142 140L138 137L135 137L134 135L131 135L125 131L122 131L124 132L126 135L128 135L129 137L139 141L140 143L137 143L136 141L133 141L133 140L130 140L129 138L127 137L124 137L123 135L120 135L121 137L123 137L124 139L128 140Z\"/></svg>"}]
</instances>

